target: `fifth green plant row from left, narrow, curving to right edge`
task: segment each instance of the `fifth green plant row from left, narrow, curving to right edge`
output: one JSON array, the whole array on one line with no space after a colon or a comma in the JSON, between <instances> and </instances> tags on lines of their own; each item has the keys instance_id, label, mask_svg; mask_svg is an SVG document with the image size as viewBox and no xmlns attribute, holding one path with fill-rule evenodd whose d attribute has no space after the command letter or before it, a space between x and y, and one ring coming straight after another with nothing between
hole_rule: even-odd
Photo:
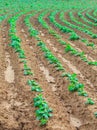
<instances>
[{"instance_id":1,"label":"fifth green plant row from left, narrow, curving to right edge","mask_svg":"<svg viewBox=\"0 0 97 130\"><path fill-rule=\"evenodd\" d=\"M70 27L72 27L72 28L74 28L74 29L77 29L77 30L79 30L79 31L82 31L82 32L84 32L84 33L90 35L92 38L97 38L97 34L94 34L93 32L89 31L88 29L79 27L79 26L77 26L77 25L75 25L75 24L72 24L72 23L68 22L68 21L65 19L64 12L61 12L61 13L60 13L60 17L59 17L59 18L60 18L60 20L61 20L63 23L65 23L66 25L68 25L68 26L70 26Z\"/></svg>"}]
</instances>

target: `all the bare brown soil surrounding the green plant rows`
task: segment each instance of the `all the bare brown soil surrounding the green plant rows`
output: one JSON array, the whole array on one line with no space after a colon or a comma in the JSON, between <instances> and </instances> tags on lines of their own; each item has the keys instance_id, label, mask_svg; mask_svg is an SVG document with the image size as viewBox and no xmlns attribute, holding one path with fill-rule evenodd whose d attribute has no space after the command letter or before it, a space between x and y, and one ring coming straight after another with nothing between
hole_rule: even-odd
<instances>
[{"instance_id":1,"label":"all the bare brown soil surrounding the green plant rows","mask_svg":"<svg viewBox=\"0 0 97 130\"><path fill-rule=\"evenodd\" d=\"M87 65L78 57L64 53L64 46L42 28L37 16L31 19L31 23L40 31L39 37L67 72L77 73L79 81L85 85L85 90L95 101L95 105L85 105L85 97L68 91L68 80L62 78L62 71L57 71L53 64L49 64L44 58L44 53L37 46L37 40L29 36L28 28L23 22L25 16L22 16L17 21L17 36L21 39L21 47L34 76L23 75L23 64L17 53L8 46L9 25L4 21L0 27L0 130L96 130L97 119L93 113L97 111L97 68ZM45 20L49 23L47 18ZM55 29L54 26L52 28ZM56 31L63 40L67 39L67 35L58 29ZM87 49L82 43L82 46L76 42L72 43L96 60L96 51L91 52L91 49ZM31 92L27 85L28 79L34 79L40 84L43 96L53 109L53 117L44 127L36 120L33 106L36 93Z\"/></svg>"}]
</instances>

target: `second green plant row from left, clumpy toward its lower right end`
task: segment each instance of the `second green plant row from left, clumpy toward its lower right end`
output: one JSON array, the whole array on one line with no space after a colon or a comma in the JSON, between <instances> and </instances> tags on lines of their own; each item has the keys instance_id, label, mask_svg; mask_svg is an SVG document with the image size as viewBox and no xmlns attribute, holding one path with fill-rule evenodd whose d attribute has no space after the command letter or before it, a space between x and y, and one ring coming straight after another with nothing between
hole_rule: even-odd
<instances>
[{"instance_id":1,"label":"second green plant row from left, clumpy toward its lower right end","mask_svg":"<svg viewBox=\"0 0 97 130\"><path fill-rule=\"evenodd\" d=\"M45 28L48 28L46 24L44 24L44 26ZM37 46L41 48L41 51L44 53L44 57L48 60L48 62L50 64L53 64L57 71L62 71L62 77L67 77L67 79L69 80L70 83L68 86L68 90L70 92L77 91L78 95L88 97L87 92L84 91L84 85L82 83L79 83L78 81L77 74L67 73L61 62L52 54L52 52L47 48L46 44L40 39L40 37L37 36L36 39L38 40ZM93 105L94 101L88 97L85 104Z\"/></svg>"}]
</instances>

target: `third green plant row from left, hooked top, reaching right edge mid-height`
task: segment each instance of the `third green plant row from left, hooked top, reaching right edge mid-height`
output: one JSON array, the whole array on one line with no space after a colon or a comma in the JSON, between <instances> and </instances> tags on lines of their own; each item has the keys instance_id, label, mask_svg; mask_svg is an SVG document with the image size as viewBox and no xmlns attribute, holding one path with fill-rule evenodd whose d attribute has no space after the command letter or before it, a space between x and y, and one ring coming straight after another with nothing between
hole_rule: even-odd
<instances>
[{"instance_id":1,"label":"third green plant row from left, hooked top, reaching right edge mid-height","mask_svg":"<svg viewBox=\"0 0 97 130\"><path fill-rule=\"evenodd\" d=\"M97 61L89 61L87 59L87 57L85 56L85 53L84 52L79 52L78 50L76 50L75 48L73 48L69 43L66 43L65 41L62 40L61 36L58 35L56 33L55 30L53 30L51 27L49 27L49 25L45 22L44 20L44 16L45 16L46 12L43 12L39 15L38 17L38 21L39 23L44 27L46 28L50 34L52 34L54 37L56 37L59 41L60 44L64 45L65 46L65 52L68 53L70 52L70 54L74 55L74 56L77 56L77 57L80 57L81 60L83 60L84 62L86 62L88 65L94 65L94 66L97 66ZM82 39L84 42L87 43L87 40L86 39ZM91 46L92 46L92 43L90 43ZM93 44L94 45L94 44Z\"/></svg>"}]
</instances>

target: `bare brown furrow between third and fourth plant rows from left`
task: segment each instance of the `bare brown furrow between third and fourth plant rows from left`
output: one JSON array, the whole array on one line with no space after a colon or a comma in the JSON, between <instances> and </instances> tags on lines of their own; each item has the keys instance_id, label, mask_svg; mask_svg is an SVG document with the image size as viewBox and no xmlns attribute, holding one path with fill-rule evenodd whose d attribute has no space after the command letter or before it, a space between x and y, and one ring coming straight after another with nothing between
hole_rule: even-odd
<instances>
[{"instance_id":1,"label":"bare brown furrow between third and fourth plant rows from left","mask_svg":"<svg viewBox=\"0 0 97 130\"><path fill-rule=\"evenodd\" d=\"M47 16L46 16L47 17ZM72 43L73 45L76 46L76 48L80 48L82 51L85 52L85 54L87 54L87 56L91 56L94 60L97 60L96 55L97 55L97 47L93 50L91 47L87 47L85 45L85 43L82 43L80 40L76 40L76 41L70 41L68 40L68 36L65 33L62 33L61 31L59 31L58 29L56 29L56 27L54 27L50 22L49 19L44 18L44 20L50 25L50 27L52 27L54 30L56 30L56 32L62 36L62 39L67 42L67 43ZM84 35L83 35L84 36ZM89 40L90 42L92 42L92 40Z\"/></svg>"}]
</instances>

